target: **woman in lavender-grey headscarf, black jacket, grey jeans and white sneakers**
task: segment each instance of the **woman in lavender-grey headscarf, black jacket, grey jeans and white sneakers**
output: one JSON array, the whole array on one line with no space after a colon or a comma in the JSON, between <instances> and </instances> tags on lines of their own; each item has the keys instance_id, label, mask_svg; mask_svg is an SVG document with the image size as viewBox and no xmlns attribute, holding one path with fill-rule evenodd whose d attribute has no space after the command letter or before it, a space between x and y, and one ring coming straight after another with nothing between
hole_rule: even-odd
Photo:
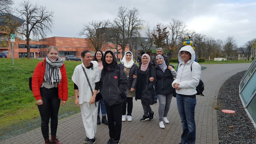
<instances>
[{"instance_id":1,"label":"woman in lavender-grey headscarf, black jacket, grey jeans and white sneakers","mask_svg":"<svg viewBox=\"0 0 256 144\"><path fill-rule=\"evenodd\" d=\"M156 93L159 101L159 127L165 128L164 122L169 123L167 119L167 114L170 109L171 98L175 89L172 87L173 78L176 77L177 73L174 68L167 63L165 63L162 55L156 56L157 66L156 66Z\"/></svg>"}]
</instances>

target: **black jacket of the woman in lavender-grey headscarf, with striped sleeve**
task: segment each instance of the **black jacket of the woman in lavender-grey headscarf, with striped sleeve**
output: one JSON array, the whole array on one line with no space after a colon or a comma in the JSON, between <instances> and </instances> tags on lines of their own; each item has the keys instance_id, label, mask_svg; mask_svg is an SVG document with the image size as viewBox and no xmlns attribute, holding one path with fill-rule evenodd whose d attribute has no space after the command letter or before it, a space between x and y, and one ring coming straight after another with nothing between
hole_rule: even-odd
<instances>
[{"instance_id":1,"label":"black jacket of the woman in lavender-grey headscarf, with striped sleeve","mask_svg":"<svg viewBox=\"0 0 256 144\"><path fill-rule=\"evenodd\" d=\"M157 65L156 67L157 81L155 83L157 94L171 94L174 93L175 89L172 87L174 81L171 71L168 69L165 72Z\"/></svg>"}]
</instances>

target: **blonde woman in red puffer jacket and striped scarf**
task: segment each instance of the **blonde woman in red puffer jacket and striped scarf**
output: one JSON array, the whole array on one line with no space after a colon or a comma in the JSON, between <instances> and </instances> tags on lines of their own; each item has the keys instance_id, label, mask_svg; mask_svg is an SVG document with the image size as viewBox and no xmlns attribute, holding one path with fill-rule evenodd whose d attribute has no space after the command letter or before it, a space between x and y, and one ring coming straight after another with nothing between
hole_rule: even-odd
<instances>
[{"instance_id":1,"label":"blonde woman in red puffer jacket and striped scarf","mask_svg":"<svg viewBox=\"0 0 256 144\"><path fill-rule=\"evenodd\" d=\"M45 144L62 144L56 137L60 102L68 97L67 72L55 46L47 49L44 61L37 64L32 77L32 91L41 116L41 131ZM49 120L51 117L51 140Z\"/></svg>"}]
</instances>

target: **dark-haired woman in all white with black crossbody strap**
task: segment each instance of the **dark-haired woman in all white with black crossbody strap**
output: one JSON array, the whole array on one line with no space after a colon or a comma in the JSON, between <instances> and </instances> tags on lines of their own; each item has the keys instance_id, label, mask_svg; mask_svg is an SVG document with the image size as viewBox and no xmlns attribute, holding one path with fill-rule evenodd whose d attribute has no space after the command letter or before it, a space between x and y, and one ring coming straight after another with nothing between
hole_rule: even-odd
<instances>
[{"instance_id":1,"label":"dark-haired woman in all white with black crossbody strap","mask_svg":"<svg viewBox=\"0 0 256 144\"><path fill-rule=\"evenodd\" d=\"M85 127L85 143L95 143L97 129L98 102L95 102L96 94L100 86L100 69L97 61L92 61L92 54L88 50L81 53L83 63L76 66L72 81L75 90L75 105L80 105L83 124ZM90 82L93 94L89 87L86 75Z\"/></svg>"}]
</instances>

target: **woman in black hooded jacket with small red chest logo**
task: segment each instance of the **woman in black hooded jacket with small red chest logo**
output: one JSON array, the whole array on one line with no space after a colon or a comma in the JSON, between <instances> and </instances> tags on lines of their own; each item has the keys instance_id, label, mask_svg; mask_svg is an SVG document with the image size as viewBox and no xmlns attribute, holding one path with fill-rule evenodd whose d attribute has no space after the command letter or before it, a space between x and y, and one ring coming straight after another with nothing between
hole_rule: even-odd
<instances>
[{"instance_id":1,"label":"woman in black hooded jacket with small red chest logo","mask_svg":"<svg viewBox=\"0 0 256 144\"><path fill-rule=\"evenodd\" d=\"M105 52L102 65L100 93L105 103L109 122L110 139L107 144L118 144L122 129L122 102L123 96L126 94L128 80L122 67L117 64L112 51Z\"/></svg>"}]
</instances>

